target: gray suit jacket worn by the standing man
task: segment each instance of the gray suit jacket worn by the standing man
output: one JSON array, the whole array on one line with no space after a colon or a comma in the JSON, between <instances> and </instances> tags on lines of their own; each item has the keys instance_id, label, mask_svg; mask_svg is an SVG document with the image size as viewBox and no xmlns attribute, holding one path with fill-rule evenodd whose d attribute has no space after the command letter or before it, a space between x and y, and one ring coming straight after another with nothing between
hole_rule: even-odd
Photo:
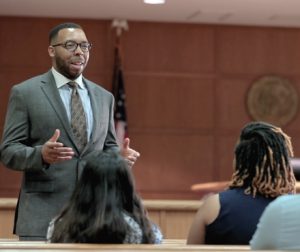
<instances>
[{"instance_id":1,"label":"gray suit jacket worn by the standing man","mask_svg":"<svg viewBox=\"0 0 300 252\"><path fill-rule=\"evenodd\" d=\"M19 236L46 236L50 220L70 198L85 160L102 150L118 148L112 94L91 81L83 82L90 95L94 126L81 154L51 71L11 90L0 151L6 167L23 172L15 216L15 233ZM58 141L72 147L76 154L72 160L46 165L42 145L57 128L61 131Z\"/></svg>"}]
</instances>

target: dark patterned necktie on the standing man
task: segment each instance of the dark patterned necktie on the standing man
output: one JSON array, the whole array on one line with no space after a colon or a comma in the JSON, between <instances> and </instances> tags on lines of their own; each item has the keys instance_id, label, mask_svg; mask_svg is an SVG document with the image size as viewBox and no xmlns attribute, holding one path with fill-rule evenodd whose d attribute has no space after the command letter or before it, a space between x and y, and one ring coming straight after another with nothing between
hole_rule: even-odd
<instances>
[{"instance_id":1,"label":"dark patterned necktie on the standing man","mask_svg":"<svg viewBox=\"0 0 300 252\"><path fill-rule=\"evenodd\" d=\"M79 151L81 152L87 143L87 129L85 113L78 93L78 84L69 82L68 85L72 88L71 95L71 127L75 137Z\"/></svg>"}]
</instances>

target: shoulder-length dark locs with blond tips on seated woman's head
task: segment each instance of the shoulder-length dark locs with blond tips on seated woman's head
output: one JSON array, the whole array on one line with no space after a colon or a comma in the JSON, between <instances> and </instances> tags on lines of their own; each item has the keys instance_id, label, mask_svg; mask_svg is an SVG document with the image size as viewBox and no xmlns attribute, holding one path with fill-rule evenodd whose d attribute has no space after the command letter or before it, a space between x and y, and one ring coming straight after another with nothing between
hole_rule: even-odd
<instances>
[{"instance_id":1,"label":"shoulder-length dark locs with blond tips on seated woman's head","mask_svg":"<svg viewBox=\"0 0 300 252\"><path fill-rule=\"evenodd\" d=\"M290 137L279 127L251 122L241 131L235 148L234 173L230 188L244 187L246 194L265 197L295 192L290 164L293 148Z\"/></svg>"}]
</instances>

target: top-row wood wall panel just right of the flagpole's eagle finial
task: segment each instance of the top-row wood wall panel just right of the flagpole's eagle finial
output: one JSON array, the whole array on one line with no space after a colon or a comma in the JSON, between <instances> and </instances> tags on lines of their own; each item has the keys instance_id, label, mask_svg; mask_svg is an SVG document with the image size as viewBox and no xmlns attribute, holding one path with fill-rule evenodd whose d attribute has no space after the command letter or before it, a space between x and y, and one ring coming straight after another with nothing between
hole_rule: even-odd
<instances>
[{"instance_id":1,"label":"top-row wood wall panel just right of the flagpole's eagle finial","mask_svg":"<svg viewBox=\"0 0 300 252\"><path fill-rule=\"evenodd\" d=\"M212 73L214 30L210 26L133 22L124 40L126 71Z\"/></svg>"}]
</instances>

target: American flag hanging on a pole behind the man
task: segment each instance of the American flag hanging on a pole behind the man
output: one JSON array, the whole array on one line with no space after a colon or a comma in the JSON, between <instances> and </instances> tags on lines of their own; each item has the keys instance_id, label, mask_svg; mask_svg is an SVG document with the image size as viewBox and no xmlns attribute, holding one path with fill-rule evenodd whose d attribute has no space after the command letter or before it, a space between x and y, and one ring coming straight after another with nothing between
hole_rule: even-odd
<instances>
[{"instance_id":1,"label":"American flag hanging on a pole behind the man","mask_svg":"<svg viewBox=\"0 0 300 252\"><path fill-rule=\"evenodd\" d=\"M127 114L126 114L126 96L124 87L124 78L120 57L120 45L117 42L115 47L114 72L113 72L113 95L115 97L115 128L119 146L123 146L125 137L127 137Z\"/></svg>"}]
</instances>

